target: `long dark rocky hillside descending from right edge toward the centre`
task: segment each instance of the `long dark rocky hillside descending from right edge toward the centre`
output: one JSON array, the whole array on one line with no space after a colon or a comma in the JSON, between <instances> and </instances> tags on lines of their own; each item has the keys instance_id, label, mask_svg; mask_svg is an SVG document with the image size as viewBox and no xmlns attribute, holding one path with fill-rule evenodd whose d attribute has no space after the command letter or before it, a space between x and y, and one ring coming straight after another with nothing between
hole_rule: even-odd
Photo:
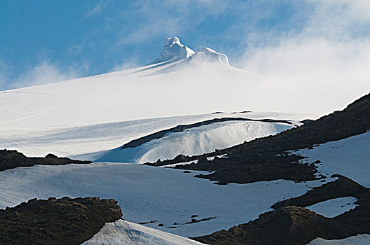
<instances>
[{"instance_id":1,"label":"long dark rocky hillside descending from right edge toward the centre","mask_svg":"<svg viewBox=\"0 0 370 245\"><path fill-rule=\"evenodd\" d=\"M327 141L363 134L369 129L370 94L367 94L343 111L336 111L301 127L211 154L188 158L195 160L204 159L205 156L227 154L228 159L202 160L197 164L179 165L176 168L213 172L198 177L219 181L219 183L251 183L273 179L311 180L315 179L314 174L317 172L314 165L301 165L298 162L301 157L287 151L312 148ZM165 162L166 165L172 163L174 162ZM163 162L149 165L163 165Z\"/></svg>"}]
</instances>

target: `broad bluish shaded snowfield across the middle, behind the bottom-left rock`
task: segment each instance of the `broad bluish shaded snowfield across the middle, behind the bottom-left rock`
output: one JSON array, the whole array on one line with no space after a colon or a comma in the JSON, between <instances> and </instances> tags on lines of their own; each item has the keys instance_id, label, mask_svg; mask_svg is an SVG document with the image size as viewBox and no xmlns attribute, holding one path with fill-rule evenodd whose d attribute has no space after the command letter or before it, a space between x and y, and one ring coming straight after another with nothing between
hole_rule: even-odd
<instances>
[{"instance_id":1,"label":"broad bluish shaded snowfield across the middle, behind the bottom-left rock","mask_svg":"<svg viewBox=\"0 0 370 245\"><path fill-rule=\"evenodd\" d=\"M114 198L127 221L156 220L163 227L158 223L146 226L193 237L251 221L275 202L298 197L309 190L308 186L322 184L278 180L220 186L193 177L199 173L121 163L18 167L0 172L0 208L34 197ZM192 215L198 215L196 219L216 218L185 224Z\"/></svg>"}]
</instances>

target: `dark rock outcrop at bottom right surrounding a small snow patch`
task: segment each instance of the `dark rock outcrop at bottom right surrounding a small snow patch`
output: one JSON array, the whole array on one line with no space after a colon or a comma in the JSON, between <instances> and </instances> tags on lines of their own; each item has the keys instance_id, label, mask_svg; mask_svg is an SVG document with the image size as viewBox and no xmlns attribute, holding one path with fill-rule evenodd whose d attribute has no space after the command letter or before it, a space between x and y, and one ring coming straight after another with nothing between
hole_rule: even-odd
<instances>
[{"instance_id":1,"label":"dark rock outcrop at bottom right surrounding a small snow patch","mask_svg":"<svg viewBox=\"0 0 370 245\"><path fill-rule=\"evenodd\" d=\"M308 244L317 237L343 239L358 234L369 234L370 190L350 182L349 179L342 177L337 182L328 183L312 190L310 194L294 199L306 200L306 203L310 203L307 202L310 196L317 203L325 199L320 197L329 197L332 190L337 193L334 196L343 196L350 189L355 193L350 195L362 193L355 209L334 218L325 218L303 207L280 205L282 208L261 214L259 218L249 223L193 239L205 244ZM341 188L343 188L342 194L340 194Z\"/></svg>"}]
</instances>

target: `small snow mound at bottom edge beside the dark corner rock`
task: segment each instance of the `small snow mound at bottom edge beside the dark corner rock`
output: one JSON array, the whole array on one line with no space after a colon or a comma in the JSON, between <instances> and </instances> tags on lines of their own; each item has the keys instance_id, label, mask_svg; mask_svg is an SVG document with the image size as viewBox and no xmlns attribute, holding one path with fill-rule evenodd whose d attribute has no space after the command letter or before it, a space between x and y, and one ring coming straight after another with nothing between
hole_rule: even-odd
<instances>
[{"instance_id":1,"label":"small snow mound at bottom edge beside the dark corner rock","mask_svg":"<svg viewBox=\"0 0 370 245\"><path fill-rule=\"evenodd\" d=\"M84 245L196 245L201 244L189 238L179 237L160 230L146 228L132 222L118 220L107 223L94 235L85 241Z\"/></svg>"}]
</instances>

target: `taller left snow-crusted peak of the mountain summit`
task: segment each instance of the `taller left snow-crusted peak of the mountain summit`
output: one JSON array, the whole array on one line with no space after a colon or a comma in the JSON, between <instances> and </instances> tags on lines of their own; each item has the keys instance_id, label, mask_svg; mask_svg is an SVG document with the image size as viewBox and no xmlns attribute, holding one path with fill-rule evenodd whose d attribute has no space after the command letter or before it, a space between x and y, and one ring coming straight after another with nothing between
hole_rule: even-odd
<instances>
[{"instance_id":1,"label":"taller left snow-crusted peak of the mountain summit","mask_svg":"<svg viewBox=\"0 0 370 245\"><path fill-rule=\"evenodd\" d=\"M174 62L180 59L186 59L194 54L191 48L180 43L178 37L165 38L165 43L160 52L158 59L153 60L149 64L157 64L160 62Z\"/></svg>"}]
</instances>

